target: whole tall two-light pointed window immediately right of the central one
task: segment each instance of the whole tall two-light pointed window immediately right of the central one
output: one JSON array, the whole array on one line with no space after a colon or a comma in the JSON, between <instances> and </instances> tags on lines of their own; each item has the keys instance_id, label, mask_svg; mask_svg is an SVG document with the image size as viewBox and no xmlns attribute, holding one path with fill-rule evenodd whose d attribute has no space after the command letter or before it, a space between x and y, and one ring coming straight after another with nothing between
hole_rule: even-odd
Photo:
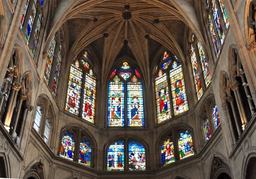
<instances>
[{"instance_id":1,"label":"whole tall two-light pointed window immediately right of the central one","mask_svg":"<svg viewBox=\"0 0 256 179\"><path fill-rule=\"evenodd\" d=\"M188 110L182 65L178 57L168 51L161 58L155 89L158 123Z\"/></svg>"}]
</instances>

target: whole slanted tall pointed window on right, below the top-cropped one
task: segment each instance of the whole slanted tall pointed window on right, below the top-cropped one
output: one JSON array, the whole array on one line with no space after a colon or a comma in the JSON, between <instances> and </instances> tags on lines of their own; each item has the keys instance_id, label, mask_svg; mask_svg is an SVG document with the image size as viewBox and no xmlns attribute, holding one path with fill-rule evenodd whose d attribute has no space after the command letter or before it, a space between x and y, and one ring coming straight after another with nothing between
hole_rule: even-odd
<instances>
[{"instance_id":1,"label":"whole slanted tall pointed window on right, below the top-cropped one","mask_svg":"<svg viewBox=\"0 0 256 179\"><path fill-rule=\"evenodd\" d=\"M211 75L205 52L200 41L193 34L191 37L190 61L198 100L211 82Z\"/></svg>"}]
</instances>

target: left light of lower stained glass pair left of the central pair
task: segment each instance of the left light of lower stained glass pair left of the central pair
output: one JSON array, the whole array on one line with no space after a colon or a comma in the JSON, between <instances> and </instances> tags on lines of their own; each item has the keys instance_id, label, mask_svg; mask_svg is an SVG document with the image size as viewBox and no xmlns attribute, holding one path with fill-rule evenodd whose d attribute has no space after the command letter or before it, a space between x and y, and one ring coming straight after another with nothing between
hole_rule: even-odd
<instances>
[{"instance_id":1,"label":"left light of lower stained glass pair left of the central pair","mask_svg":"<svg viewBox=\"0 0 256 179\"><path fill-rule=\"evenodd\" d=\"M74 132L72 132L70 130L66 130L62 134L60 156L66 158L66 159L73 160L74 144L75 144Z\"/></svg>"}]
</instances>

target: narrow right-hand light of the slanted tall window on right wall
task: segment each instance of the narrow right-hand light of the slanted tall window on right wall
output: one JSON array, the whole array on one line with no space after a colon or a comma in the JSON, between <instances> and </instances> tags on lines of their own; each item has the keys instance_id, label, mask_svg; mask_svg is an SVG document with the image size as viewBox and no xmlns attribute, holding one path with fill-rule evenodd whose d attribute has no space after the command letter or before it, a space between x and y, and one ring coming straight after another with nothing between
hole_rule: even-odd
<instances>
[{"instance_id":1,"label":"narrow right-hand light of the slanted tall window on right wall","mask_svg":"<svg viewBox=\"0 0 256 179\"><path fill-rule=\"evenodd\" d=\"M208 63L206 61L205 53L204 53L204 51L202 49L202 45L199 41L197 41L197 47L198 47L198 52L199 52L200 61L201 61L201 65L202 65L203 77L204 77L205 85L207 88L211 82L211 75L210 75Z\"/></svg>"}]
</instances>

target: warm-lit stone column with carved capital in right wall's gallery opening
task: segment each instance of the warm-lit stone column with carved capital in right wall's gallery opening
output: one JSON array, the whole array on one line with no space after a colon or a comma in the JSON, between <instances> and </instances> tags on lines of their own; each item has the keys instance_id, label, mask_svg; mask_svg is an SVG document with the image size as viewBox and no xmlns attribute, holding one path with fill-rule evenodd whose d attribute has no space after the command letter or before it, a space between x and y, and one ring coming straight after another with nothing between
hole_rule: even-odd
<instances>
[{"instance_id":1,"label":"warm-lit stone column with carved capital in right wall's gallery opening","mask_svg":"<svg viewBox=\"0 0 256 179\"><path fill-rule=\"evenodd\" d=\"M237 107L238 107L239 114L240 114L241 121L242 121L242 129L244 130L245 127L247 126L248 122L247 122L247 118L245 115L244 107L242 105L243 103L242 103L241 95L239 93L238 81L234 81L233 83L231 83L231 90L234 91L235 99L237 100Z\"/></svg>"}]
</instances>

